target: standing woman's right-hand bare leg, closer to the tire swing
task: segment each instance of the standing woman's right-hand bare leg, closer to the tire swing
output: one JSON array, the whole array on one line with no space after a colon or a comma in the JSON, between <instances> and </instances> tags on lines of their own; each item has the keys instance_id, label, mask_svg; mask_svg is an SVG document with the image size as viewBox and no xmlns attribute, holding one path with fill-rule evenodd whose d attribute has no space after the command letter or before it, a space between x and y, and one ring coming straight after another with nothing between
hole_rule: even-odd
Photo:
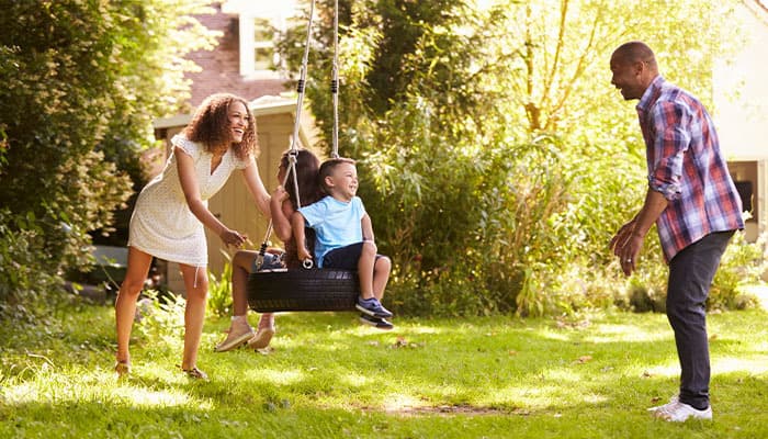
<instances>
[{"instance_id":1,"label":"standing woman's right-hand bare leg, closer to the tire swing","mask_svg":"<svg viewBox=\"0 0 768 439\"><path fill-rule=\"evenodd\" d=\"M187 308L184 309L184 357L181 369L189 371L197 367L197 349L203 336L205 319L205 301L208 293L206 267L180 264L181 275L187 289Z\"/></svg>"}]
</instances>

